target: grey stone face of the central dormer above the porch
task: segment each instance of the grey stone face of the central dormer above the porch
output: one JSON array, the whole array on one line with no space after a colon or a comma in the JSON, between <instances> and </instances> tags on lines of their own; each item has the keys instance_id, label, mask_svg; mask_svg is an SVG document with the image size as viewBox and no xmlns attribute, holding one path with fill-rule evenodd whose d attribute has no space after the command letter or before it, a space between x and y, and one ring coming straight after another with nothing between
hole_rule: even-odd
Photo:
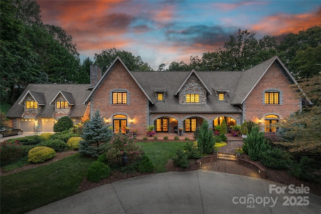
<instances>
[{"instance_id":1,"label":"grey stone face of the central dormer above the porch","mask_svg":"<svg viewBox=\"0 0 321 214\"><path fill-rule=\"evenodd\" d=\"M185 96L186 94L200 94L200 102L187 103ZM206 105L206 95L206 88L199 80L199 78L195 74L192 74L190 78L186 81L185 85L182 87L181 91L179 92L179 103L181 105Z\"/></svg>"}]
</instances>

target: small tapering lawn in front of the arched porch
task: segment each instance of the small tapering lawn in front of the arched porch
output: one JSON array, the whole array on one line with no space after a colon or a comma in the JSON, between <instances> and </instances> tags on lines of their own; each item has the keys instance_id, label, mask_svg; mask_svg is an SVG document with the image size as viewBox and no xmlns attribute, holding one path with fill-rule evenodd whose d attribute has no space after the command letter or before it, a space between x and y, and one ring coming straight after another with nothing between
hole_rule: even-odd
<instances>
[{"instance_id":1,"label":"small tapering lawn in front of the arched porch","mask_svg":"<svg viewBox=\"0 0 321 214\"><path fill-rule=\"evenodd\" d=\"M170 160L170 157L175 156L177 150L183 149L188 141L184 142L136 142L140 145L145 154L150 158L155 165L156 173L166 172L166 163Z\"/></svg>"}]
</instances>

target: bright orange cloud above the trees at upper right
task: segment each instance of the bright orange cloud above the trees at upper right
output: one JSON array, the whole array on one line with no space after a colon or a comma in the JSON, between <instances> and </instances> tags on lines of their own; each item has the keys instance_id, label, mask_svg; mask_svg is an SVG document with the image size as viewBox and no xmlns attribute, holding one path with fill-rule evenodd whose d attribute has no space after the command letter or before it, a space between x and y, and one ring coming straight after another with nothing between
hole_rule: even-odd
<instances>
[{"instance_id":1,"label":"bright orange cloud above the trees at upper right","mask_svg":"<svg viewBox=\"0 0 321 214\"><path fill-rule=\"evenodd\" d=\"M259 24L254 25L252 31L278 36L297 33L319 24L321 24L321 7L309 14L279 14L266 17Z\"/></svg>"}]
</instances>

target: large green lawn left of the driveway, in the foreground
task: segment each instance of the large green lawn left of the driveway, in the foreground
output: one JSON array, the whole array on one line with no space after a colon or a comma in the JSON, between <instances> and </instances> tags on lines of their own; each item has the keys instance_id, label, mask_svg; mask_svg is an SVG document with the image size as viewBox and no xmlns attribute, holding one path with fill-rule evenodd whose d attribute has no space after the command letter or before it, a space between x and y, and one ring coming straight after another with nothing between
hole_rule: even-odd
<instances>
[{"instance_id":1,"label":"large green lawn left of the driveway, in the foreground","mask_svg":"<svg viewBox=\"0 0 321 214\"><path fill-rule=\"evenodd\" d=\"M57 162L2 176L1 212L25 213L79 192L94 162L79 153Z\"/></svg>"}]
</instances>

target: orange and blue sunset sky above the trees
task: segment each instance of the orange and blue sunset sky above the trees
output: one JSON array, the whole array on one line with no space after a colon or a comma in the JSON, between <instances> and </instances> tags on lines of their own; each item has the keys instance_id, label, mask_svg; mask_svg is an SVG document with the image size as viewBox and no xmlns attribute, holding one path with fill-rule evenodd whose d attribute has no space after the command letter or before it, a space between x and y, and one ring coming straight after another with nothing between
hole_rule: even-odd
<instances>
[{"instance_id":1,"label":"orange and blue sunset sky above the trees","mask_svg":"<svg viewBox=\"0 0 321 214\"><path fill-rule=\"evenodd\" d=\"M238 29L275 36L321 24L321 1L37 1L44 24L71 35L83 61L116 48L152 68L190 63Z\"/></svg>"}]
</instances>

